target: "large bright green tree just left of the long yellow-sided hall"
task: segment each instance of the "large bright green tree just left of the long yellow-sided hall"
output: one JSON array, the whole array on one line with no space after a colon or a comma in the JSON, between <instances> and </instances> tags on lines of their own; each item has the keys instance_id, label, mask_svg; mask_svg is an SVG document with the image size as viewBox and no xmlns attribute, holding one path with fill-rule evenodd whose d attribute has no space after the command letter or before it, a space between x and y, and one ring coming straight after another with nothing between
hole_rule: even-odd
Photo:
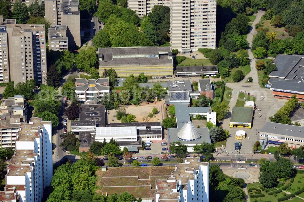
<instances>
[{"instance_id":1,"label":"large bright green tree just left of the long yellow-sided hall","mask_svg":"<svg viewBox=\"0 0 304 202\"><path fill-rule=\"evenodd\" d=\"M89 46L87 49L81 49L77 53L75 57L75 64L77 66L77 69L89 72L91 67L96 66L97 60L98 58L95 48Z\"/></svg>"}]
</instances>

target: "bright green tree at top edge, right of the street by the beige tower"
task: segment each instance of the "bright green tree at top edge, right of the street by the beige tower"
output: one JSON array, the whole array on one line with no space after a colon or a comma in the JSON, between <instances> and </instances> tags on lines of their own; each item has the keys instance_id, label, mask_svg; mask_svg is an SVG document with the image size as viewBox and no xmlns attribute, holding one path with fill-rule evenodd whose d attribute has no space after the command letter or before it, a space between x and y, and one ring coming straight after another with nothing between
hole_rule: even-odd
<instances>
[{"instance_id":1,"label":"bright green tree at top edge, right of the street by the beige tower","mask_svg":"<svg viewBox=\"0 0 304 202\"><path fill-rule=\"evenodd\" d=\"M110 15L121 16L121 12L117 5L114 5L111 1L101 1L98 5L98 10L95 12L94 16L98 17L101 22L107 23Z\"/></svg>"}]
</instances>

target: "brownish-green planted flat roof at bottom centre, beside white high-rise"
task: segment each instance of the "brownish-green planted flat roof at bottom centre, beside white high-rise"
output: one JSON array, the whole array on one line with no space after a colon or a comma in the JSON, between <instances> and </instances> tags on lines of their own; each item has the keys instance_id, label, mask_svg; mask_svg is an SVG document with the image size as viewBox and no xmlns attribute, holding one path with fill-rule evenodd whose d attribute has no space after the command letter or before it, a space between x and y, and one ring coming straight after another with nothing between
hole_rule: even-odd
<instances>
[{"instance_id":1,"label":"brownish-green planted flat roof at bottom centre, beside white high-rise","mask_svg":"<svg viewBox=\"0 0 304 202\"><path fill-rule=\"evenodd\" d=\"M96 171L98 180L96 181L96 193L101 194L121 194L128 191L135 197L154 197L155 180L166 179L166 176L171 176L171 172L175 169L173 166L166 167L121 167L108 168L107 171L102 172L102 169ZM140 180L137 179L137 175ZM155 176L155 177L150 177ZM156 177L162 175L160 177ZM136 176L136 177L131 177ZM111 178L107 178L111 177ZM105 186L105 187L104 187ZM123 187L109 187L109 186L123 186ZM127 186L144 186L144 187L127 187ZM151 187L152 189L151 189ZM101 189L102 187L102 189Z\"/></svg>"}]
</instances>

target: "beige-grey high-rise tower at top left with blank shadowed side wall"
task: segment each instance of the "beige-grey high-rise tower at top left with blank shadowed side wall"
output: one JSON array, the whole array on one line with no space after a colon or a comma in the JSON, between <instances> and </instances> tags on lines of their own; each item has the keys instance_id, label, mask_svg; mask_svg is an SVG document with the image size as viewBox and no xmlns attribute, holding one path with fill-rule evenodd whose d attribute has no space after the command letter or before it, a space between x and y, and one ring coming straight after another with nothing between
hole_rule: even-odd
<instances>
[{"instance_id":1,"label":"beige-grey high-rise tower at top left with blank shadowed side wall","mask_svg":"<svg viewBox=\"0 0 304 202\"><path fill-rule=\"evenodd\" d=\"M67 25L69 46L80 46L78 0L45 0L45 19L51 25Z\"/></svg>"}]
</instances>

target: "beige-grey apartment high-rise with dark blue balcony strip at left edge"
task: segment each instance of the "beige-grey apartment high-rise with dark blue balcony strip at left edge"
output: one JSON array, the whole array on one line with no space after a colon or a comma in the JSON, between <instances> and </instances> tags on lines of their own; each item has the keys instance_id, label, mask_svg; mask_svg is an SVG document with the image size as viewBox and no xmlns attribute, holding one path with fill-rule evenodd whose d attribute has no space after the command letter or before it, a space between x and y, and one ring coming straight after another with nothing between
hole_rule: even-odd
<instances>
[{"instance_id":1,"label":"beige-grey apartment high-rise with dark blue balcony strip at left edge","mask_svg":"<svg viewBox=\"0 0 304 202\"><path fill-rule=\"evenodd\" d=\"M0 82L46 83L45 25L16 24L0 16Z\"/></svg>"}]
</instances>

